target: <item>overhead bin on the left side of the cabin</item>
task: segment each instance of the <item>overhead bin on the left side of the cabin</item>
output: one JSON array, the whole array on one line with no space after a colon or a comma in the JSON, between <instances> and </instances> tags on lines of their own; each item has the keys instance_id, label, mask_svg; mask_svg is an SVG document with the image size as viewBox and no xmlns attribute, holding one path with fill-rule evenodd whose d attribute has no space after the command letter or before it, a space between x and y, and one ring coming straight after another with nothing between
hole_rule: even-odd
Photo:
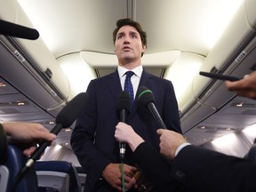
<instances>
[{"instance_id":1,"label":"overhead bin on the left side of the cabin","mask_svg":"<svg viewBox=\"0 0 256 192\"><path fill-rule=\"evenodd\" d=\"M1 20L33 28L17 1L0 3ZM58 114L68 100L68 79L40 36L28 40L1 35L0 41L1 76L40 107L52 115Z\"/></svg>"}]
</instances>

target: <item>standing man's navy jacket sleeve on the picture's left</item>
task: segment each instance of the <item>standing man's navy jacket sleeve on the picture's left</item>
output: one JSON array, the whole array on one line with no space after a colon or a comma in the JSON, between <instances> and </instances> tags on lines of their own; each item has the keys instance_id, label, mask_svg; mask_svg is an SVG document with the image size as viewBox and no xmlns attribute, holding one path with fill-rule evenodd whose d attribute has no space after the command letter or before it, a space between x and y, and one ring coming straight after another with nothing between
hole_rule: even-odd
<instances>
[{"instance_id":1,"label":"standing man's navy jacket sleeve on the picture's left","mask_svg":"<svg viewBox=\"0 0 256 192\"><path fill-rule=\"evenodd\" d=\"M86 180L91 187L100 179L104 168L110 163L94 145L96 115L95 85L92 81L87 89L89 100L81 116L76 119L76 127L71 135L71 146L79 163L87 173ZM103 110L103 109L102 109ZM106 141L106 145L108 145Z\"/></svg>"}]
</instances>

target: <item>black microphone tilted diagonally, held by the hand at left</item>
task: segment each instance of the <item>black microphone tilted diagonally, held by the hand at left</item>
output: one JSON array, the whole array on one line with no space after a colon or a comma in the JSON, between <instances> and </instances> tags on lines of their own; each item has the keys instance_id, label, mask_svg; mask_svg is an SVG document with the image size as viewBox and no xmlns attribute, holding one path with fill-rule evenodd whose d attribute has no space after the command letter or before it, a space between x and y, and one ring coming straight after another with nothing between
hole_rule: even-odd
<instances>
[{"instance_id":1,"label":"black microphone tilted diagonally, held by the hand at left","mask_svg":"<svg viewBox=\"0 0 256 192\"><path fill-rule=\"evenodd\" d=\"M71 124L73 124L80 114L82 109L85 107L85 104L88 100L88 95L86 92L81 92L76 95L75 98L70 100L68 104L61 109L60 113L56 116L56 125L52 128L52 133L57 135L62 128L67 128ZM44 153L45 148L50 145L51 141L43 141L39 144L39 147L36 148L36 151L29 156L26 165L20 170L18 175L16 176L16 184L20 180L21 176L24 175L25 172L28 171L28 168L31 167L34 162ZM15 185L14 185L15 186Z\"/></svg>"}]
</instances>

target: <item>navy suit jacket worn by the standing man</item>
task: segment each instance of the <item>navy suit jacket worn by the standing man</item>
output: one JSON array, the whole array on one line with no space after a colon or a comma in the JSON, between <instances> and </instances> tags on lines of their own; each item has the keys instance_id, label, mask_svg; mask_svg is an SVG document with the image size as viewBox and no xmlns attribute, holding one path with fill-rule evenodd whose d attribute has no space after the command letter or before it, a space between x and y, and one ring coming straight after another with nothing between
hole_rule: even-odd
<instances>
[{"instance_id":1,"label":"navy suit jacket worn by the standing man","mask_svg":"<svg viewBox=\"0 0 256 192\"><path fill-rule=\"evenodd\" d=\"M156 99L156 108L166 126L173 131L181 132L180 116L172 83L152 76L143 70L140 86L150 89ZM119 122L116 113L116 100L122 92L118 72L94 79L88 85L88 103L84 112L76 120L76 127L71 136L71 146L79 163L87 172L86 185L93 188L100 179L101 172L109 163L119 163L119 147L114 134ZM146 140L156 151L159 151L159 128L148 108L135 102L128 116L127 124ZM126 145L125 162L134 165L131 149Z\"/></svg>"}]
</instances>

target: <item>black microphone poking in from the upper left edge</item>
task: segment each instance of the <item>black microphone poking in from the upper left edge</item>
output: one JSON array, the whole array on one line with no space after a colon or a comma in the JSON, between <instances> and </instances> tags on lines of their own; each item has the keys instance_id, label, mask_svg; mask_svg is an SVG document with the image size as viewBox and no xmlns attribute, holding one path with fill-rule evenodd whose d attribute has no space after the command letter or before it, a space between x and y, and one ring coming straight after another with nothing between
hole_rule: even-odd
<instances>
[{"instance_id":1,"label":"black microphone poking in from the upper left edge","mask_svg":"<svg viewBox=\"0 0 256 192\"><path fill-rule=\"evenodd\" d=\"M39 33L35 28L27 28L5 20L0 20L0 34L30 40L36 40L39 37Z\"/></svg>"}]
</instances>

